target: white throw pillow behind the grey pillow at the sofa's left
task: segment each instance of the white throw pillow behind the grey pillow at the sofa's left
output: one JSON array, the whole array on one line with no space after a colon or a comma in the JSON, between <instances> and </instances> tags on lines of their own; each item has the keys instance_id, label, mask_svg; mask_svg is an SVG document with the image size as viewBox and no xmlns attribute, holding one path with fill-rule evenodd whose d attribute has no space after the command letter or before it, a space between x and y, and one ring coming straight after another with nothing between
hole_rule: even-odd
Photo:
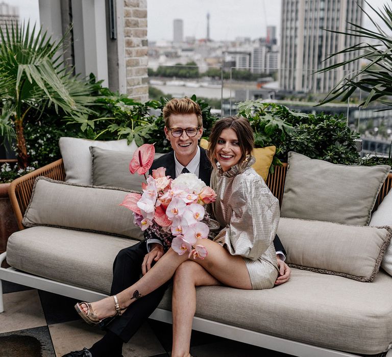
<instances>
[{"instance_id":1,"label":"white throw pillow behind the grey pillow at the sofa's left","mask_svg":"<svg viewBox=\"0 0 392 357\"><path fill-rule=\"evenodd\" d=\"M61 156L65 169L65 181L72 184L91 185L90 146L103 149L134 152L137 146L134 141L130 145L127 139L113 141L97 141L80 138L62 137L59 140Z\"/></svg>"}]
</instances>

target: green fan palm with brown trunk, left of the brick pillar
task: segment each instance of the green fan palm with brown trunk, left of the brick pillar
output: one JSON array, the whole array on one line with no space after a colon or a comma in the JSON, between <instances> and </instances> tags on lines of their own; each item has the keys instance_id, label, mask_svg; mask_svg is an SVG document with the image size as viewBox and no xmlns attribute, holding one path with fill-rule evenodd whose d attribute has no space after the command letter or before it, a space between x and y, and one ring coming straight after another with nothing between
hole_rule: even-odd
<instances>
[{"instance_id":1,"label":"green fan palm with brown trunk, left of the brick pillar","mask_svg":"<svg viewBox=\"0 0 392 357\"><path fill-rule=\"evenodd\" d=\"M16 24L0 28L0 98L3 107L14 113L11 121L21 168L28 165L23 119L31 108L54 106L56 112L61 108L70 116L90 112L91 85L72 77L59 55L64 38L52 41L42 28L36 31L34 25L30 31L30 23L20 29Z\"/></svg>"}]
</instances>

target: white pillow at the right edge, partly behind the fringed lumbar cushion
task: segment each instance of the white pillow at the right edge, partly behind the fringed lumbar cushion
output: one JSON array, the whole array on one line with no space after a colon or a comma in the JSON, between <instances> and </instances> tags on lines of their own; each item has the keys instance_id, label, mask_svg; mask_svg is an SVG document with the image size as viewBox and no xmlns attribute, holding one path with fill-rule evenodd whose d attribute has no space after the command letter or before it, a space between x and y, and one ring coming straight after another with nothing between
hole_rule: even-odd
<instances>
[{"instance_id":1,"label":"white pillow at the right edge, partly behind the fringed lumbar cushion","mask_svg":"<svg viewBox=\"0 0 392 357\"><path fill-rule=\"evenodd\" d=\"M392 190L384 197L377 211L373 212L369 225L390 225L392 226ZM384 258L382 259L381 268L389 275L392 275L392 245L389 244Z\"/></svg>"}]
</instances>

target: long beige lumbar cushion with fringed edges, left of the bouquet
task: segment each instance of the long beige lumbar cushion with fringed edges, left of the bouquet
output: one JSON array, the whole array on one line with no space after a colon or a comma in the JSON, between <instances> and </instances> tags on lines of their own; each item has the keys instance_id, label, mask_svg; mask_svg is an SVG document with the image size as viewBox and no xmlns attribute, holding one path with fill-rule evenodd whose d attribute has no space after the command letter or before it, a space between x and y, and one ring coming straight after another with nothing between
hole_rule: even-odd
<instances>
[{"instance_id":1,"label":"long beige lumbar cushion with fringed edges, left of the bouquet","mask_svg":"<svg viewBox=\"0 0 392 357\"><path fill-rule=\"evenodd\" d=\"M119 204L125 189L89 187L37 177L22 224L70 228L143 239L133 212Z\"/></svg>"}]
</instances>

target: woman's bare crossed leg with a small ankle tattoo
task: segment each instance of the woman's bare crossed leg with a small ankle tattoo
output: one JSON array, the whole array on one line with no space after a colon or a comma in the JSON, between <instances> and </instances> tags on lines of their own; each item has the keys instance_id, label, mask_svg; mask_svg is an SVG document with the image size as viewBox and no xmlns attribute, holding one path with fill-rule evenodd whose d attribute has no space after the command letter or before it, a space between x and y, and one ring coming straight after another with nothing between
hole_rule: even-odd
<instances>
[{"instance_id":1,"label":"woman's bare crossed leg with a small ankle tattoo","mask_svg":"<svg viewBox=\"0 0 392 357\"><path fill-rule=\"evenodd\" d=\"M248 270L240 256L232 256L220 244L208 239L199 239L197 244L204 245L207 248L208 255L204 260L193 260L192 258L189 260L200 264L224 285L239 289L252 289ZM186 260L188 260L186 253L179 256L170 248L154 267L135 284L117 294L120 308L127 308L138 298L151 293L163 283L167 282L174 275L174 272L180 264ZM92 308L100 319L112 316L115 313L112 297L93 302ZM87 313L87 307L84 307L84 310Z\"/></svg>"}]
</instances>

